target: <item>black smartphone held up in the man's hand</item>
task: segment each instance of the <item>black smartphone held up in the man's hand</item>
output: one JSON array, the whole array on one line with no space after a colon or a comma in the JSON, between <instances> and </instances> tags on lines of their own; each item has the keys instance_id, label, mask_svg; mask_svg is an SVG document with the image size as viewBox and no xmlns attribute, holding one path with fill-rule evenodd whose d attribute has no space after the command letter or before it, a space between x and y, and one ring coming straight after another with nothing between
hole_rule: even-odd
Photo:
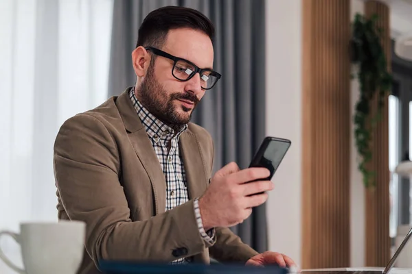
<instances>
[{"instance_id":1,"label":"black smartphone held up in the man's hand","mask_svg":"<svg viewBox=\"0 0 412 274\"><path fill-rule=\"evenodd\" d=\"M249 167L265 167L271 172L266 179L272 179L290 145L290 140L267 136L253 156Z\"/></svg>"}]
</instances>

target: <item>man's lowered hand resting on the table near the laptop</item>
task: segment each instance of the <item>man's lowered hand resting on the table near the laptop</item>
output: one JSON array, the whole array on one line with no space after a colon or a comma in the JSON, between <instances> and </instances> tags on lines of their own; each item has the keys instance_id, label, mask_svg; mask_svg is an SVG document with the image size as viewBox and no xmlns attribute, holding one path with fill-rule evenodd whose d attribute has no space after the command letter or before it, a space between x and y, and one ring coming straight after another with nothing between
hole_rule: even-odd
<instances>
[{"instance_id":1,"label":"man's lowered hand resting on the table near the laptop","mask_svg":"<svg viewBox=\"0 0 412 274\"><path fill-rule=\"evenodd\" d=\"M294 272L300 271L299 269L297 269L295 262L293 262L293 260L288 256L272 251L260 253L256 256L253 256L246 262L246 265L250 266L265 266L268 264L275 264L280 267L288 267L290 269L294 269Z\"/></svg>"}]
</instances>

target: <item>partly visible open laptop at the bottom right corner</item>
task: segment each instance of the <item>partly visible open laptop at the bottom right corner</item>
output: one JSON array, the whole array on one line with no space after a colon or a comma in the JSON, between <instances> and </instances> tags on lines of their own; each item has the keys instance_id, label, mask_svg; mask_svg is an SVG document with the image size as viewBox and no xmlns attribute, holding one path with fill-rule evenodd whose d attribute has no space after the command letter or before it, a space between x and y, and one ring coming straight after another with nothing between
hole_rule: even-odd
<instances>
[{"instance_id":1,"label":"partly visible open laptop at the bottom right corner","mask_svg":"<svg viewBox=\"0 0 412 274\"><path fill-rule=\"evenodd\" d=\"M393 268L393 265L396 262L396 259L398 258L400 252L402 251L402 249L405 247L405 245L407 245L407 242L409 240L409 238L411 238L412 236L412 228L409 230L407 236L404 238L404 240L402 240L402 243L400 244L400 246L398 247L398 249L396 250L395 254L393 254L393 257L391 258L391 260L389 260L387 266L385 267L385 269L383 271L380 270L350 270L350 269L343 269L342 271L339 270L328 270L328 269L316 269L316 270L303 270L301 271L304 274L328 274L328 273L339 273L339 274L389 274L389 271L391 271L391 269Z\"/></svg>"}]
</instances>

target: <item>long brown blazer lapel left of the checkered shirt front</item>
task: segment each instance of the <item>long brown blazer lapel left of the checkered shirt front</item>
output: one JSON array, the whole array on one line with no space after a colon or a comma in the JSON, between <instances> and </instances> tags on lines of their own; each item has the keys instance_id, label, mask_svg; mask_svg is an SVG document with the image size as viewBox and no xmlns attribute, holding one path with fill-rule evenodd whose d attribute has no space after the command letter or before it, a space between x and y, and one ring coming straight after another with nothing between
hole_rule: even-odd
<instances>
[{"instance_id":1,"label":"long brown blazer lapel left of the checkered shirt front","mask_svg":"<svg viewBox=\"0 0 412 274\"><path fill-rule=\"evenodd\" d=\"M144 126L141 124L139 115L130 101L128 92L130 88L122 92L116 101L117 108L122 116L124 126L128 131L130 143L135 149L144 169L148 173L155 196L156 214L165 212L166 207L166 182L161 169L159 159L157 159L155 149L148 138Z\"/></svg>"}]
</instances>

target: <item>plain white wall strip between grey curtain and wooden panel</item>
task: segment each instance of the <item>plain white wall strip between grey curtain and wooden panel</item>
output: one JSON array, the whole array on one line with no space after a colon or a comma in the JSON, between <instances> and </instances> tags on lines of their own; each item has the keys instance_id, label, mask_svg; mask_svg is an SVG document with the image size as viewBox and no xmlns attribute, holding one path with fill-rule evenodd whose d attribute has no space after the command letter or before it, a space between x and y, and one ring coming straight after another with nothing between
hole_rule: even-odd
<instances>
[{"instance_id":1,"label":"plain white wall strip between grey curtain and wooden panel","mask_svg":"<svg viewBox=\"0 0 412 274\"><path fill-rule=\"evenodd\" d=\"M301 265L301 1L266 0L266 135L292 141L267 201L269 249Z\"/></svg>"}]
</instances>

